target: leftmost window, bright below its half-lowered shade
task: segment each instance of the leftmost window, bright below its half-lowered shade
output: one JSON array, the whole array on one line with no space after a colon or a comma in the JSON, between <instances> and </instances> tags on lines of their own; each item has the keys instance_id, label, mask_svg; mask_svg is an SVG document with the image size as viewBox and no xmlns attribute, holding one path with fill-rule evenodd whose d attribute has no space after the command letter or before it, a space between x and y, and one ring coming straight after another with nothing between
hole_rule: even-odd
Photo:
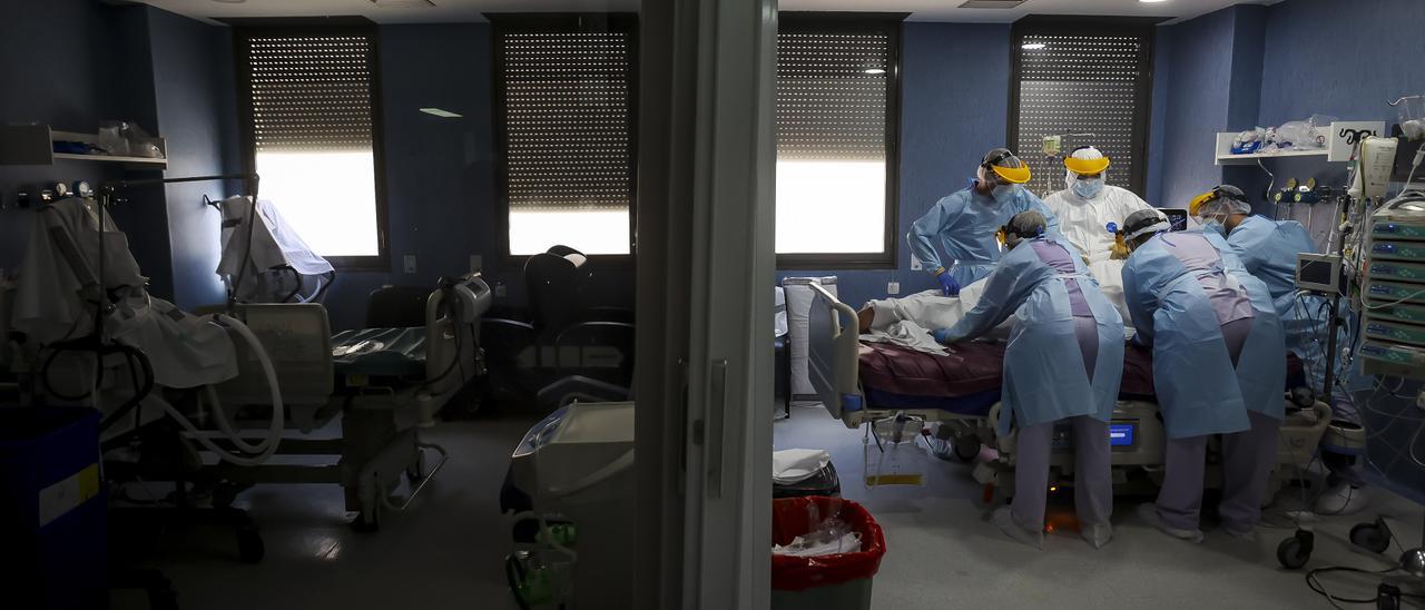
<instances>
[{"instance_id":1,"label":"leftmost window, bright below its half-lowered shade","mask_svg":"<svg viewBox=\"0 0 1425 610\"><path fill-rule=\"evenodd\" d=\"M316 254L385 267L373 26L252 27L237 36L248 167Z\"/></svg>"}]
</instances>

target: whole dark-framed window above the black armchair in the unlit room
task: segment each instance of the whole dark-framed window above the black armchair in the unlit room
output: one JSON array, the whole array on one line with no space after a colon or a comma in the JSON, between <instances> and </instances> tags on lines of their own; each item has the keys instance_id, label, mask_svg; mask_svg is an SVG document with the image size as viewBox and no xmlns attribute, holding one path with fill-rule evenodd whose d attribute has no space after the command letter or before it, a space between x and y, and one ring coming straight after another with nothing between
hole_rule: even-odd
<instances>
[{"instance_id":1,"label":"whole dark-framed window above the black armchair in the unlit room","mask_svg":"<svg viewBox=\"0 0 1425 610\"><path fill-rule=\"evenodd\" d=\"M633 254L634 16L490 16L510 255Z\"/></svg>"}]
</instances>

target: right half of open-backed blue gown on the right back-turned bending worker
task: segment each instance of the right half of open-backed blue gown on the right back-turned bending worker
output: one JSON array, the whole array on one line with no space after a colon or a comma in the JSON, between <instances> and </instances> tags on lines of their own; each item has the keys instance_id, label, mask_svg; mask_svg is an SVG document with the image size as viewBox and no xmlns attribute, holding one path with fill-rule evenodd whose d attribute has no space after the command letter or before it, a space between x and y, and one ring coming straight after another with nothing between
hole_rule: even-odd
<instances>
[{"instance_id":1,"label":"right half of open-backed blue gown on the right back-turned bending worker","mask_svg":"<svg viewBox=\"0 0 1425 610\"><path fill-rule=\"evenodd\" d=\"M1204 234L1223 257L1227 272L1237 279L1251 298L1253 324L1247 343L1237 359L1237 385L1243 389L1247 410L1273 419L1284 419L1287 412L1287 336L1273 302L1271 289L1261 278L1243 265L1241 258L1216 232Z\"/></svg>"}]
</instances>

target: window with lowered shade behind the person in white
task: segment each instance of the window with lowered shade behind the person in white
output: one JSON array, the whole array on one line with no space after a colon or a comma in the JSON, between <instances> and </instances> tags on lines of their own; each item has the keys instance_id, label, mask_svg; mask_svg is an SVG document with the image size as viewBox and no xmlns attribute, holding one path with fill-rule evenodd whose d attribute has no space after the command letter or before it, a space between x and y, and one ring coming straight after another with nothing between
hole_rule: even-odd
<instances>
[{"instance_id":1,"label":"window with lowered shade behind the person in white","mask_svg":"<svg viewBox=\"0 0 1425 610\"><path fill-rule=\"evenodd\" d=\"M1109 184L1141 197L1153 26L1112 17L1025 19L1012 31L1009 141L1035 172L1033 191L1064 188L1063 157L1045 154L1045 137L1064 135L1063 154L1097 147L1113 160Z\"/></svg>"}]
</instances>

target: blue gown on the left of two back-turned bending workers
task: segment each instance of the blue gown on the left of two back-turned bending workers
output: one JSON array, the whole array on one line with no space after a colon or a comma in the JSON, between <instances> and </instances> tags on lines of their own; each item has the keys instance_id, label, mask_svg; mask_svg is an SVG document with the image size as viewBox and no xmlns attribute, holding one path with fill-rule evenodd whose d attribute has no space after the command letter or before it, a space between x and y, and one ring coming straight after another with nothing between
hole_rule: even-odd
<instances>
[{"instance_id":1,"label":"blue gown on the left of two back-turned bending workers","mask_svg":"<svg viewBox=\"0 0 1425 610\"><path fill-rule=\"evenodd\" d=\"M1070 262L1073 272L1046 262L1035 242L1063 248L1060 261ZM1076 334L1070 281L1097 331L1093 379ZM1009 433L1010 413L1022 428L1082 415L1107 422L1123 379L1123 318L1067 239L1047 235L1006 252L985 281L979 304L950 328L946 342L983 335L1010 315L1015 329L1005 349L999 432Z\"/></svg>"}]
</instances>

